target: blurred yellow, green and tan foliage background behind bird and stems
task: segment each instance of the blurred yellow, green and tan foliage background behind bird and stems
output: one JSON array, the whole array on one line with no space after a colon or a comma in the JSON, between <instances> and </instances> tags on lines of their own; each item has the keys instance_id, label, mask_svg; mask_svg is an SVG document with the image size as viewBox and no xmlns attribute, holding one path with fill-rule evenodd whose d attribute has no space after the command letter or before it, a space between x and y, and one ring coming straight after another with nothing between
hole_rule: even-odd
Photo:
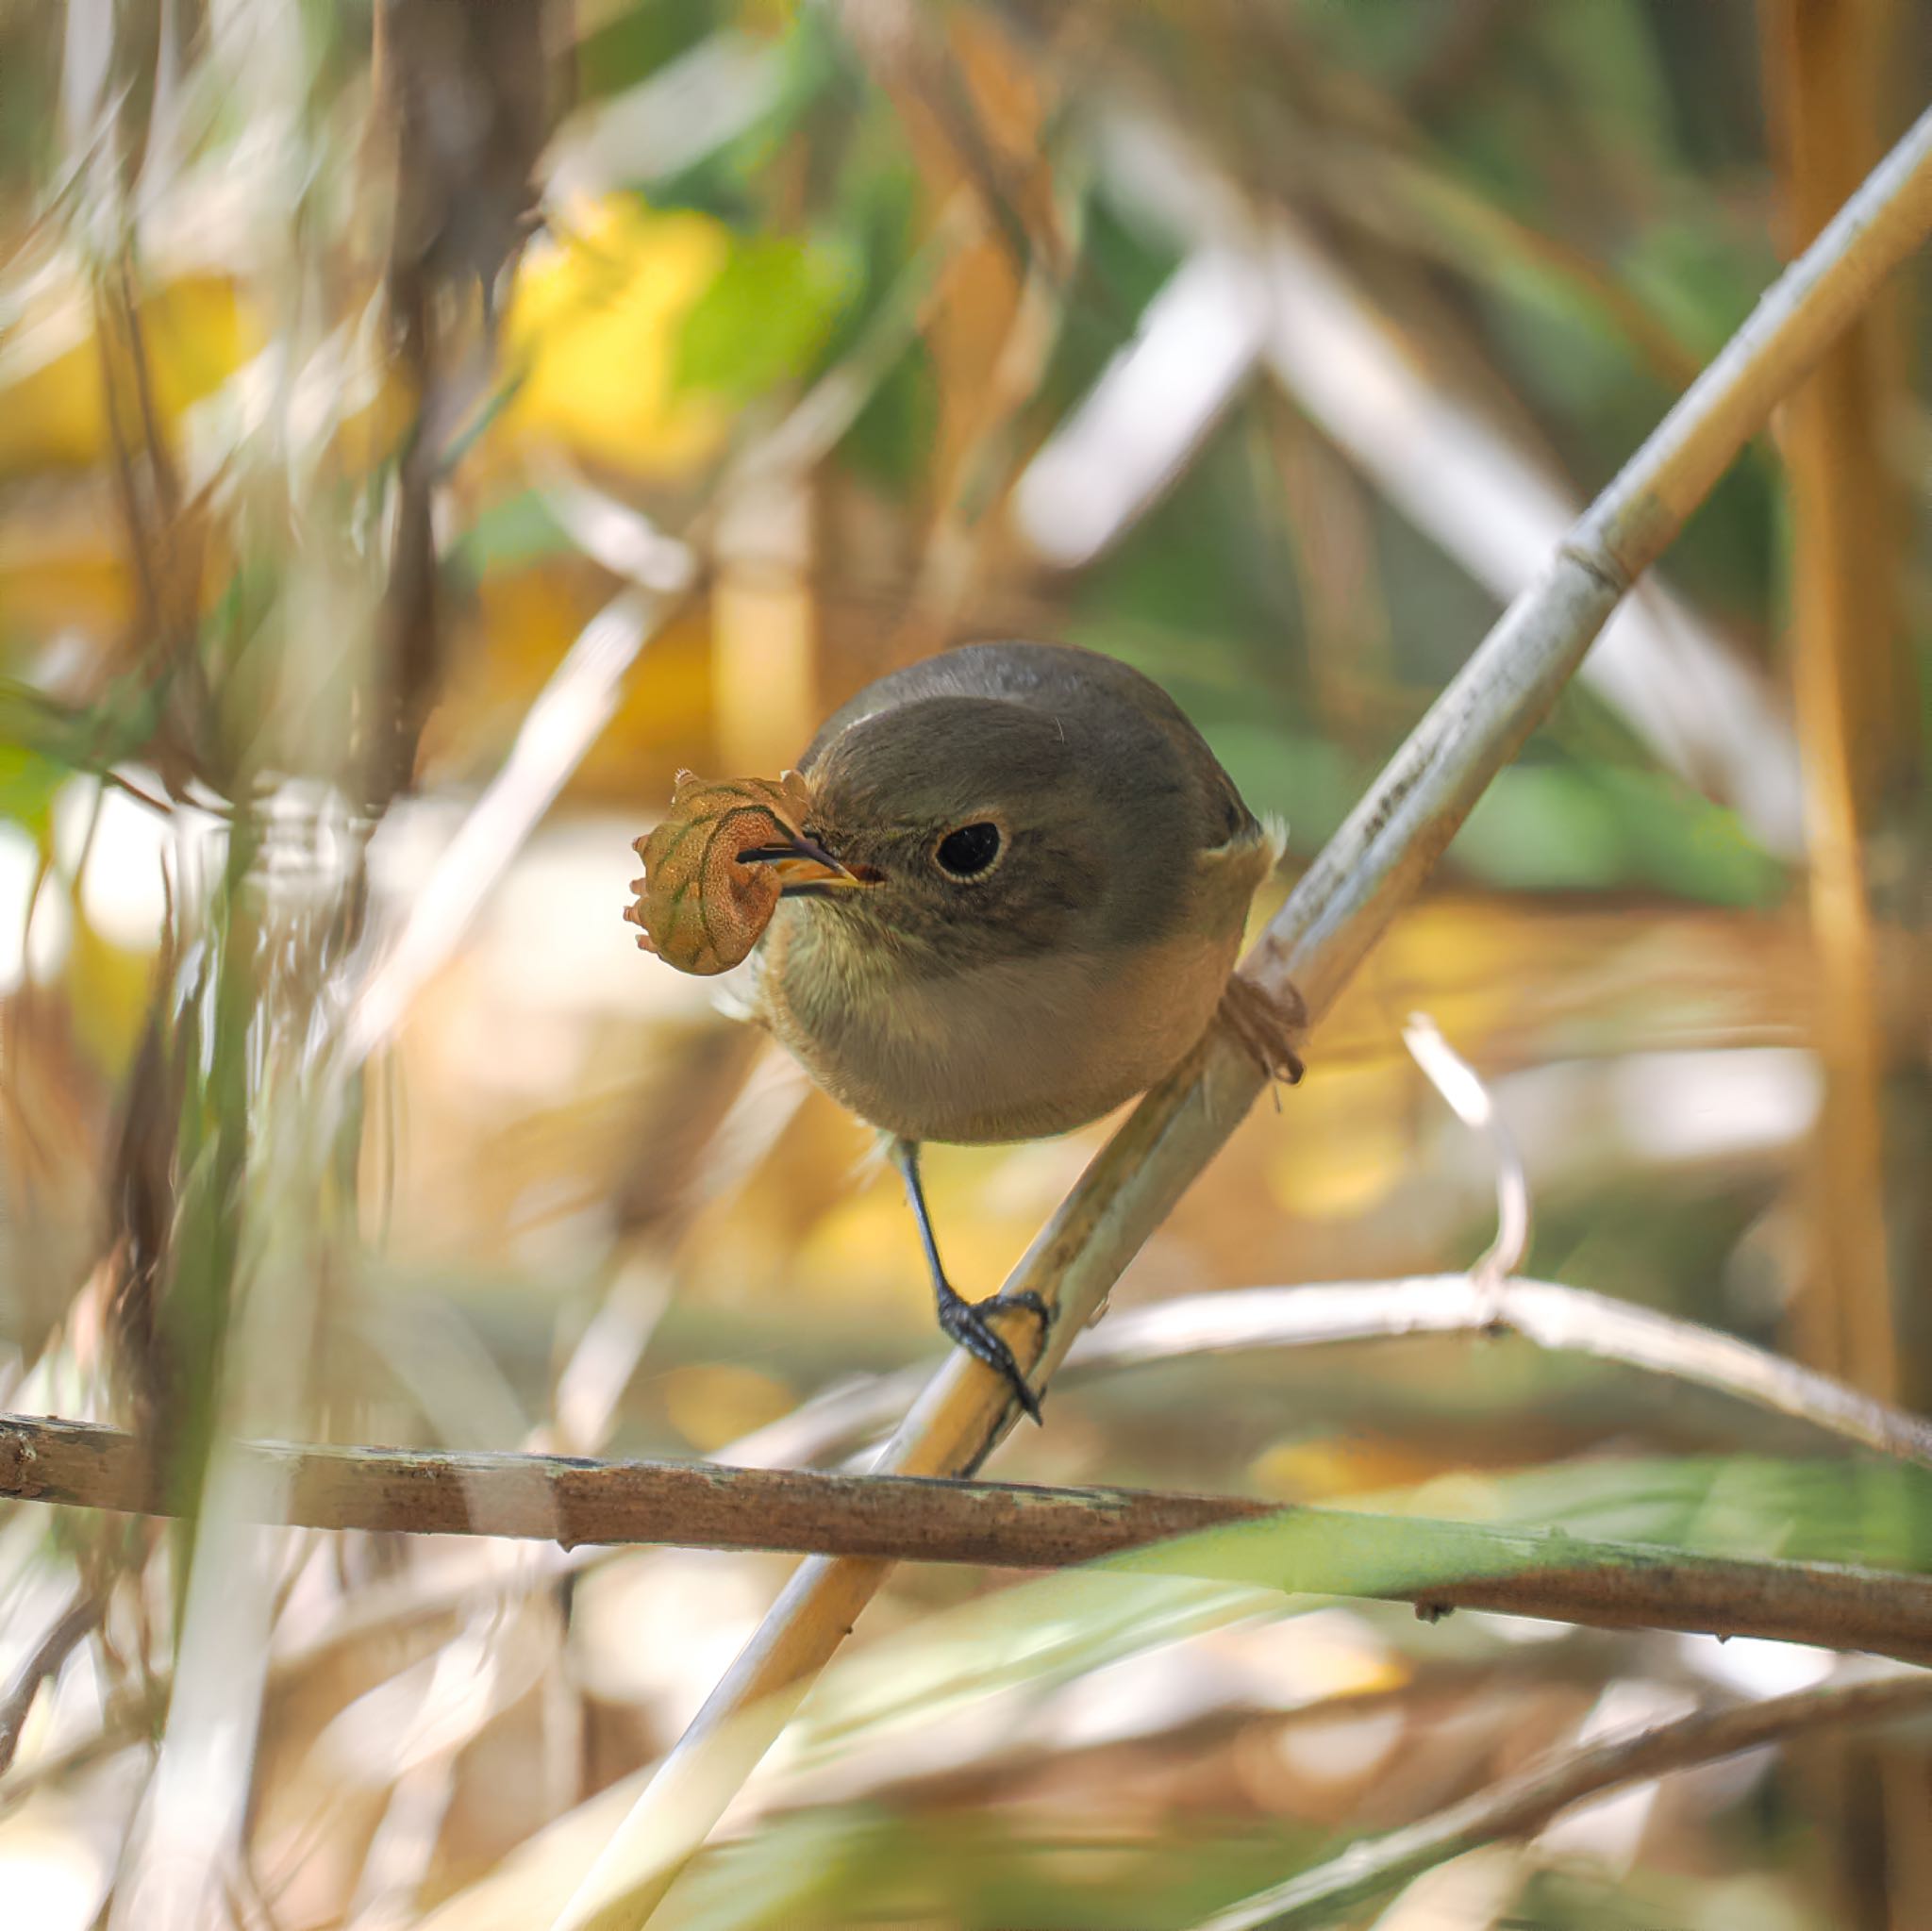
<instances>
[{"instance_id":1,"label":"blurred yellow, green and tan foliage background behind bird and stems","mask_svg":"<svg viewBox=\"0 0 1932 1931\"><path fill-rule=\"evenodd\" d=\"M1291 877L1928 85L1917 0L0 6L0 1394L203 1498L0 1520L8 1670L81 1607L14 1921L549 1921L786 1570L257 1535L226 1435L798 1460L937 1356L864 1130L620 923L676 769L1063 637ZM1721 485L1117 1307L1468 1263L1420 1008L1522 1143L1528 1273L1924 1406L1922 313ZM1103 1132L931 1155L964 1286ZM1387 1340L1082 1381L995 1471L1855 1560L1855 1485L1750 1473L1832 1452ZM1837 1668L1010 1583L904 1568L667 1919L1188 1925ZM1926 1742L1640 1786L1354 1921L1922 1925Z\"/></svg>"}]
</instances>

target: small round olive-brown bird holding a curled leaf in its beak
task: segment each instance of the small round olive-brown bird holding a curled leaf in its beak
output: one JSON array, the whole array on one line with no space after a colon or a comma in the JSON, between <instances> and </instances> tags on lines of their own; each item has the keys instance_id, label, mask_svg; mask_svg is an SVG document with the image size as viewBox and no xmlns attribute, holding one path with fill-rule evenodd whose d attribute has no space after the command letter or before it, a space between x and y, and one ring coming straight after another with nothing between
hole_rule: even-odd
<instances>
[{"instance_id":1,"label":"small round olive-brown bird holding a curled leaf in its beak","mask_svg":"<svg viewBox=\"0 0 1932 1931\"><path fill-rule=\"evenodd\" d=\"M891 1135L945 1332L1039 1404L947 1280L920 1141L1063 1133L1146 1091L1217 1012L1300 1077L1300 1014L1231 981L1279 854L1175 701L1043 643L976 643L895 672L800 761L802 836L742 852L781 900L752 1004L837 1101Z\"/></svg>"}]
</instances>

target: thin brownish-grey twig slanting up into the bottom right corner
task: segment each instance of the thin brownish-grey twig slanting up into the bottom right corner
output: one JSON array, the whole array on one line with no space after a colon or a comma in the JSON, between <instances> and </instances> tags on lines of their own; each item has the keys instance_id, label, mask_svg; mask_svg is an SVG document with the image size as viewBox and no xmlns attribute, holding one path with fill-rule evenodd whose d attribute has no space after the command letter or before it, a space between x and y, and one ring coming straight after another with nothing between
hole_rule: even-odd
<instances>
[{"instance_id":1,"label":"thin brownish-grey twig slanting up into the bottom right corner","mask_svg":"<svg viewBox=\"0 0 1932 1931\"><path fill-rule=\"evenodd\" d=\"M1420 1877L1478 1844L1530 1836L1559 1811L1623 1784L1648 1782L1764 1744L1843 1724L1895 1722L1932 1711L1932 1674L1797 1690L1733 1709L1700 1709L1532 1763L1434 1817L1350 1844L1339 1858L1217 1912L1198 1931L1296 1931Z\"/></svg>"}]
</instances>

